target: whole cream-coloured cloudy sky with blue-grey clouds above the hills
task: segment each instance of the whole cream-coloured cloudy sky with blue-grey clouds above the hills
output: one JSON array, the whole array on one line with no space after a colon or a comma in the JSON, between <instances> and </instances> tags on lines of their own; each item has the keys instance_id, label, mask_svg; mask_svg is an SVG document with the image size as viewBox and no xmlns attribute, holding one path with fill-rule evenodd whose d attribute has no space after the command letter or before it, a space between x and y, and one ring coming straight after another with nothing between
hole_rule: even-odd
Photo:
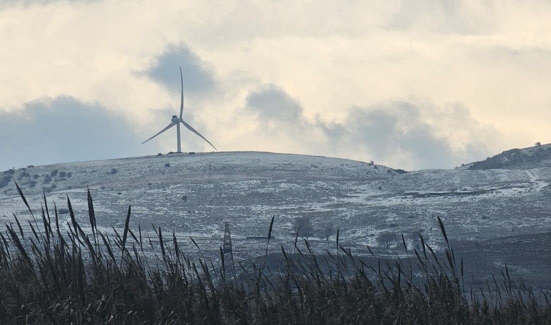
<instances>
[{"instance_id":1,"label":"whole cream-coloured cloudy sky with blue-grey clouds above the hills","mask_svg":"<svg viewBox=\"0 0 551 325\"><path fill-rule=\"evenodd\" d=\"M0 1L0 170L176 151L453 168L551 142L549 1ZM182 129L182 151L212 151Z\"/></svg>"}]
</instances>

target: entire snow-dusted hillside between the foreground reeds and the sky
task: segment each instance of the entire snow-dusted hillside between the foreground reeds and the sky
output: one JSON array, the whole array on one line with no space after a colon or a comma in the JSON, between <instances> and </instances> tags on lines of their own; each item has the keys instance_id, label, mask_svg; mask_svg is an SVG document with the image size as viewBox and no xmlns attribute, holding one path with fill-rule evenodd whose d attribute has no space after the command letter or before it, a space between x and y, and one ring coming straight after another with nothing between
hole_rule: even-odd
<instances>
[{"instance_id":1,"label":"entire snow-dusted hillside between the foreground reeds and the sky","mask_svg":"<svg viewBox=\"0 0 551 325\"><path fill-rule=\"evenodd\" d=\"M547 148L547 146L542 146ZM537 149L536 149L537 150ZM151 223L176 236L195 238L204 252L218 254L224 224L230 222L237 257L260 255L276 217L277 244L294 242L298 217L310 217L312 246L333 247L324 230L341 229L341 243L358 254L377 246L383 232L413 238L423 233L438 247L436 216L451 239L476 242L549 230L551 168L491 170L399 170L348 159L266 152L172 154L62 163L0 174L0 222L12 211L30 219L17 181L34 211L41 193L48 206L66 208L71 198L80 223L88 223L86 190L94 197L100 228L122 228L129 204L131 227L154 235ZM61 214L68 219L68 214ZM26 222L23 225L27 224ZM65 224L64 221L62 224ZM291 244L289 244L291 245ZM190 245L188 249L193 250ZM207 254L207 253L205 253Z\"/></svg>"}]
</instances>

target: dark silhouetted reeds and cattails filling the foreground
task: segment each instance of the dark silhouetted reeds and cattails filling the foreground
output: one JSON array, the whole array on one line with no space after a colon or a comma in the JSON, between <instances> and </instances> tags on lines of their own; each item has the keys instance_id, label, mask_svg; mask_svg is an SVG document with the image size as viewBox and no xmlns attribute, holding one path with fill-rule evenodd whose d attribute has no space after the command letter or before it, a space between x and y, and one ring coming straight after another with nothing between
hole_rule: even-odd
<instances>
[{"instance_id":1,"label":"dark silhouetted reeds and cattails filling the foreground","mask_svg":"<svg viewBox=\"0 0 551 325\"><path fill-rule=\"evenodd\" d=\"M463 262L456 261L440 219L448 244L443 259L423 236L420 250L413 251L402 236L398 243L408 262L369 265L339 245L337 231L332 252L315 255L307 240L303 252L295 241L296 254L280 247L281 268L269 267L266 250L263 262L232 274L223 254L219 261L188 257L174 232L155 228L156 238L143 238L141 227L129 227L131 207L122 232L101 232L90 192L88 233L68 197L67 225L60 225L57 208L48 207L45 196L42 205L40 216L29 222L32 233L23 231L17 217L0 233L2 324L551 322L548 291L540 297L515 286L506 267L488 290L464 292Z\"/></svg>"}]
</instances>

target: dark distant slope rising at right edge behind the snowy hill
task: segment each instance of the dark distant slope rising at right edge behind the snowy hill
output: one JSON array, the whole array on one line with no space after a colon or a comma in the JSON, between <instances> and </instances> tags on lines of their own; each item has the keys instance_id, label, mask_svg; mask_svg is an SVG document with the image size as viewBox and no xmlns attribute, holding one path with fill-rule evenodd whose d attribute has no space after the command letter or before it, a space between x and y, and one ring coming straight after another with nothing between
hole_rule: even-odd
<instances>
[{"instance_id":1,"label":"dark distant slope rising at right edge behind the snowy hill","mask_svg":"<svg viewBox=\"0 0 551 325\"><path fill-rule=\"evenodd\" d=\"M458 169L534 169L551 167L551 144L511 149Z\"/></svg>"}]
</instances>

